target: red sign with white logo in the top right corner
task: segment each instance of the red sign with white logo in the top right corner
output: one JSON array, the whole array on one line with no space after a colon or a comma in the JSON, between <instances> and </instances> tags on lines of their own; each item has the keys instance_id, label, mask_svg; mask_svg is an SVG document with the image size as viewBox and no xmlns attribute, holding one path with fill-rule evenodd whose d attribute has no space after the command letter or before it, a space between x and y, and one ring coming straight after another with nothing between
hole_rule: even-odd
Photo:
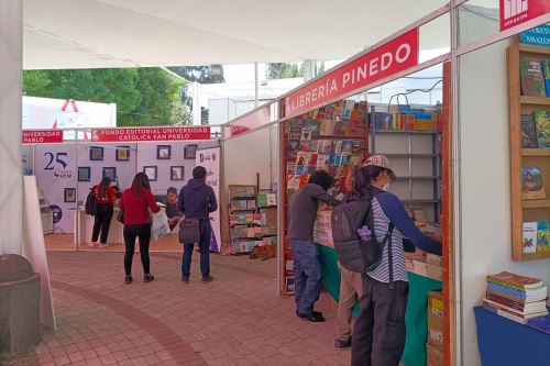
<instances>
[{"instance_id":1,"label":"red sign with white logo in the top right corner","mask_svg":"<svg viewBox=\"0 0 550 366\"><path fill-rule=\"evenodd\" d=\"M549 12L549 0L501 0L501 31Z\"/></svg>"}]
</instances>

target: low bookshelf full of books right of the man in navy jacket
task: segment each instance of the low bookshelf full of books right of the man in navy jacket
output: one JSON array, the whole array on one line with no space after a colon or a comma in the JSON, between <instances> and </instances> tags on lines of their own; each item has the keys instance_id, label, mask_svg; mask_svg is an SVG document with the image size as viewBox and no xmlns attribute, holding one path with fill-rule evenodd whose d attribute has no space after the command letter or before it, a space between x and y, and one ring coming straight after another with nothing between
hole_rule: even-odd
<instances>
[{"instance_id":1,"label":"low bookshelf full of books right of the man in navy jacket","mask_svg":"<svg viewBox=\"0 0 550 366\"><path fill-rule=\"evenodd\" d=\"M249 254L256 245L276 244L275 193L258 193L256 186L230 185L229 212L232 254Z\"/></svg>"}]
</instances>

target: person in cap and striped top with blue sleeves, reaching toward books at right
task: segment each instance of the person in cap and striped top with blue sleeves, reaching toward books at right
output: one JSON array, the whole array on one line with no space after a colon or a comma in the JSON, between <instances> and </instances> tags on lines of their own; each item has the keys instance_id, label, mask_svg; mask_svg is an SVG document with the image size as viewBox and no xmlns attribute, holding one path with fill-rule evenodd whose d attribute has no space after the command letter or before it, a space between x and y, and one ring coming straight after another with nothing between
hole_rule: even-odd
<instances>
[{"instance_id":1,"label":"person in cap and striped top with blue sleeves, reaching toward books at right","mask_svg":"<svg viewBox=\"0 0 550 366\"><path fill-rule=\"evenodd\" d=\"M394 180L388 159L373 155L356 171L353 184L353 195L367 202L372 200L377 242L388 239L380 265L362 275L363 296L351 345L354 366L397 366L400 362L405 350L405 311L409 292L404 235L422 251L441 255L441 242L422 234L402 201L385 191Z\"/></svg>"}]
</instances>

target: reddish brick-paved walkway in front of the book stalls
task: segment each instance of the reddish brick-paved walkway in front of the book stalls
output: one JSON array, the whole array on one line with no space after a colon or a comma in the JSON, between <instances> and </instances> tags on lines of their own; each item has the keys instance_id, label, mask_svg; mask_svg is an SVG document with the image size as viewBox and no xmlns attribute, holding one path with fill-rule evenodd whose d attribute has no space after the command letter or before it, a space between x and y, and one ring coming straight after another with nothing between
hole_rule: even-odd
<instances>
[{"instance_id":1,"label":"reddish brick-paved walkway in front of the book stalls","mask_svg":"<svg viewBox=\"0 0 550 366\"><path fill-rule=\"evenodd\" d=\"M33 353L2 365L348 365L336 351L336 309L322 295L326 323L296 318L276 292L276 259L211 256L215 281L179 281L178 253L152 254L157 280L123 284L122 254L48 252L58 330L43 331Z\"/></svg>"}]
</instances>

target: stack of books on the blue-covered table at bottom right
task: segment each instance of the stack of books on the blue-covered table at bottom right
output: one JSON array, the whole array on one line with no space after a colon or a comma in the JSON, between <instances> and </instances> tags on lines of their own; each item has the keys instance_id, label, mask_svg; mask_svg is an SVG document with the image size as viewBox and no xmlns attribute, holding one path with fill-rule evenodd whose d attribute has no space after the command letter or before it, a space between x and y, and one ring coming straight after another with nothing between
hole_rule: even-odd
<instances>
[{"instance_id":1,"label":"stack of books on the blue-covered table at bottom right","mask_svg":"<svg viewBox=\"0 0 550 366\"><path fill-rule=\"evenodd\" d=\"M547 286L537 278L507 271L487 276L487 291L483 306L518 323L548 315Z\"/></svg>"}]
</instances>

